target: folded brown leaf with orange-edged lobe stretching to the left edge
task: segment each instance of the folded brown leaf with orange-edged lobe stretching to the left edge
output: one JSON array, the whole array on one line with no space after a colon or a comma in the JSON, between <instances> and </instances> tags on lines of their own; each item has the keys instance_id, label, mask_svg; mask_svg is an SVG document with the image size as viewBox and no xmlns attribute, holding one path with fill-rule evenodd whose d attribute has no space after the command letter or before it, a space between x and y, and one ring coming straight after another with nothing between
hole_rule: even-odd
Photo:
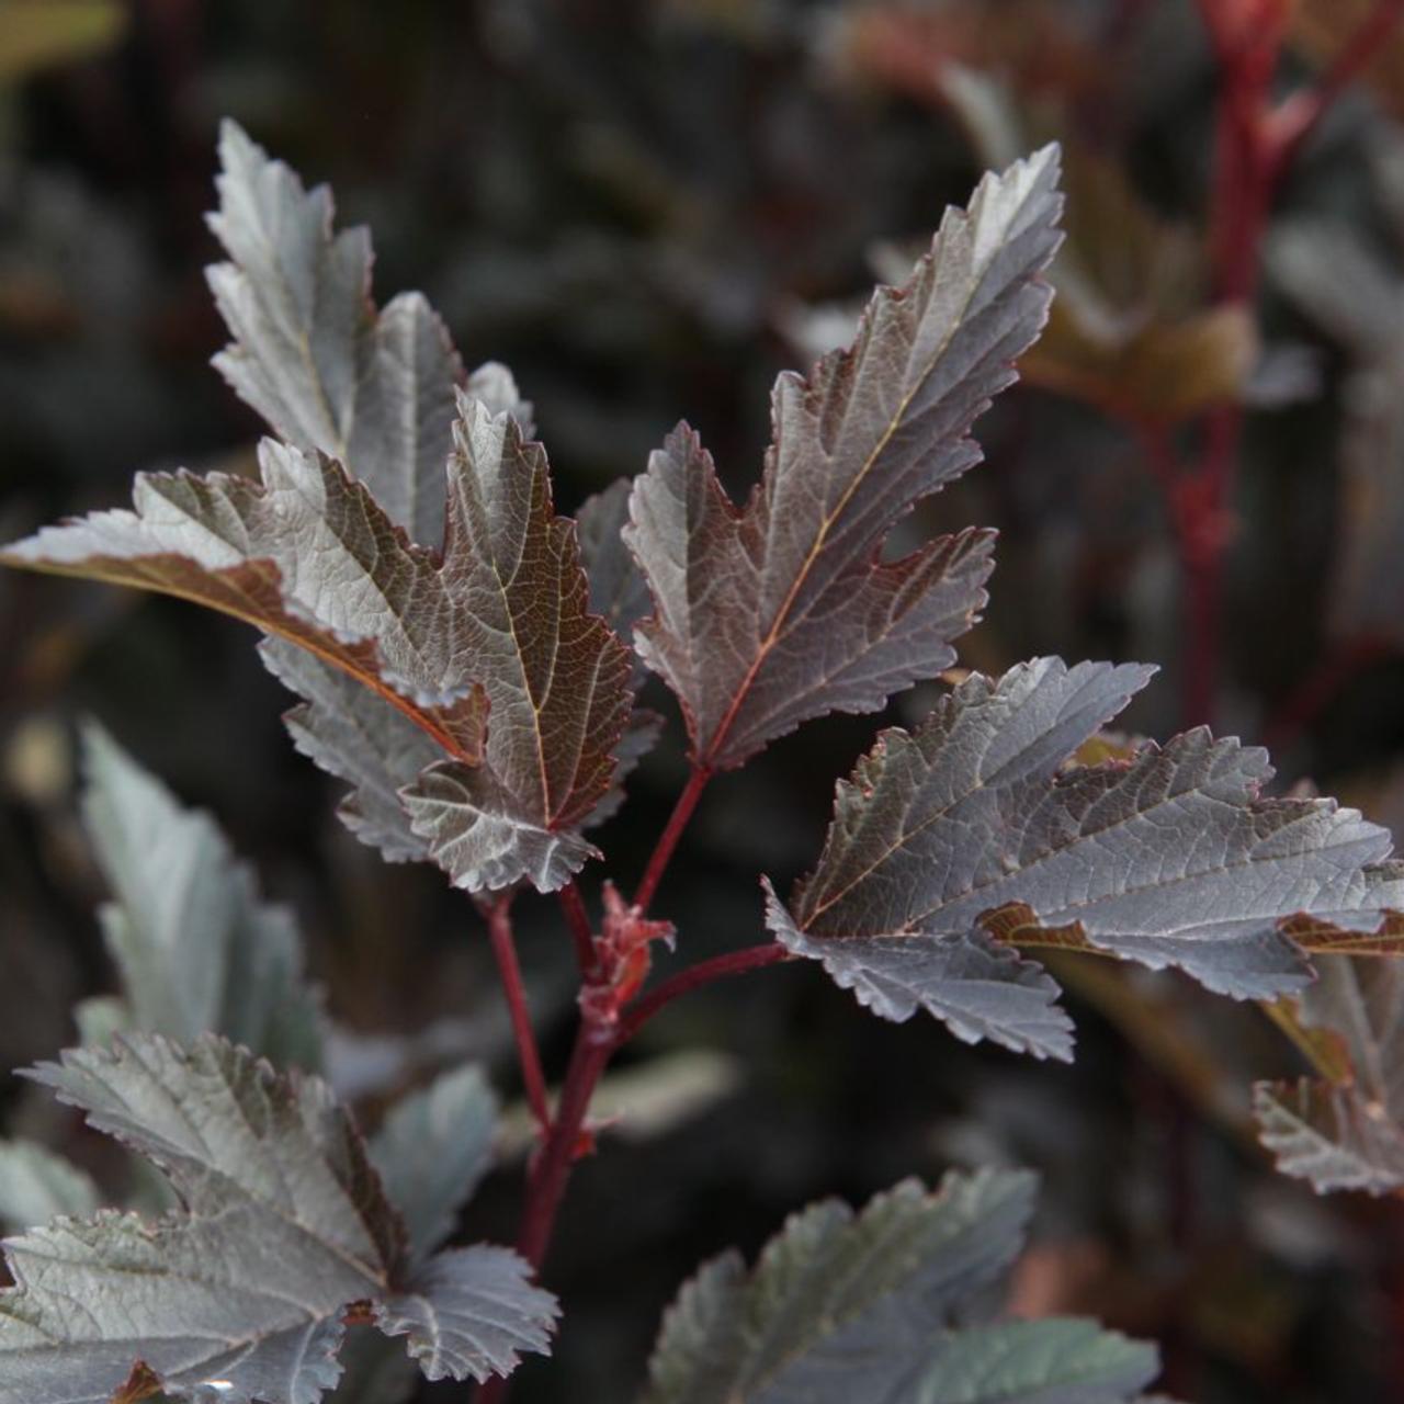
<instances>
[{"instance_id":1,"label":"folded brown leaf with orange-edged lobe stretching to the left edge","mask_svg":"<svg viewBox=\"0 0 1404 1404\"><path fill-rule=\"evenodd\" d=\"M549 890L594 852L578 828L614 783L629 654L588 609L541 445L466 395L459 416L442 556L336 463L265 441L261 484L139 476L136 512L0 560L195 598L336 664L453 757L399 792L453 882Z\"/></svg>"}]
</instances>

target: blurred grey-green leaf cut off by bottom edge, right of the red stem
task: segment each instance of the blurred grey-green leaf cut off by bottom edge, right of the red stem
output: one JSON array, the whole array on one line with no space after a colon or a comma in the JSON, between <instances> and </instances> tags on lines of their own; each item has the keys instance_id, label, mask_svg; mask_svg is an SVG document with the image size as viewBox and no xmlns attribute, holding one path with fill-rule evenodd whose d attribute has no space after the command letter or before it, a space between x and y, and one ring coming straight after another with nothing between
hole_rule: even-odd
<instances>
[{"instance_id":1,"label":"blurred grey-green leaf cut off by bottom edge, right of the red stem","mask_svg":"<svg viewBox=\"0 0 1404 1404\"><path fill-rule=\"evenodd\" d=\"M953 1328L1022 1247L1032 1193L949 1175L792 1216L751 1272L731 1252L684 1286L643 1404L1123 1404L1151 1346L1081 1321Z\"/></svg>"}]
</instances>

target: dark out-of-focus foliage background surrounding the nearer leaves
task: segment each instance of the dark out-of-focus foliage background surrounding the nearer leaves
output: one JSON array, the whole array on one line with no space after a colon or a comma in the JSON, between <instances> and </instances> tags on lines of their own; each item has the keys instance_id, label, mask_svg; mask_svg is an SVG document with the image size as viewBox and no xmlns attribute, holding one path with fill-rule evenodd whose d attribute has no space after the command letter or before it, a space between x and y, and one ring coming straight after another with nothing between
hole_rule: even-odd
<instances>
[{"instance_id":1,"label":"dark out-of-focus foliage background surrounding the nearer leaves","mask_svg":"<svg viewBox=\"0 0 1404 1404\"><path fill-rule=\"evenodd\" d=\"M1370 8L1300 0L1282 83ZM423 288L470 364L514 368L566 510L639 470L680 416L744 491L776 371L841 340L854 299L906 268L983 166L1057 138L1053 322L981 424L988 463L914 522L1002 534L963 661L1154 660L1132 724L1179 726L1157 445L1241 406L1219 729L1268 739L1282 785L1404 824L1404 39L1287 174L1251 312L1210 299L1217 91L1191 0L0 0L0 528L125 501L138 469L250 463L257 424L208 368L220 115L373 227L379 296ZM73 803L90 713L296 906L333 1068L368 1120L465 1054L514 1095L479 918L435 870L383 866L340 828L251 644L171 601L0 578L0 1061L51 1056L72 1004L112 988ZM685 774L670 716L604 831L623 882ZM814 856L870 734L816 723L713 786L660 899L685 958L758 938L755 873ZM569 943L548 904L519 913L559 1070ZM519 1398L628 1397L699 1258L754 1251L817 1195L970 1163L1046 1177L1015 1307L1161 1339L1178 1397L1404 1397L1404 1209L1271 1172L1248 1088L1297 1063L1261 1011L1101 963L1059 974L1071 1068L879 1024L800 969L658 1019L571 1188L550 1268L566 1327ZM95 1154L67 1113L13 1081L4 1097L15 1130ZM522 1150L472 1236L512 1236Z\"/></svg>"}]
</instances>

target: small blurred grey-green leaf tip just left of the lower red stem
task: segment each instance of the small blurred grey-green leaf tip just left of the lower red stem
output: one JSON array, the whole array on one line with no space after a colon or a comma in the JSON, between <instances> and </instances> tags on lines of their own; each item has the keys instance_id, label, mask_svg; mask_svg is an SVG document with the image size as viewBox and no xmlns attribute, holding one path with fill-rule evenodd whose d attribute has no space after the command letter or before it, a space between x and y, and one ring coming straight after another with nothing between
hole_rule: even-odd
<instances>
[{"instance_id":1,"label":"small blurred grey-green leaf tip just left of the lower red stem","mask_svg":"<svg viewBox=\"0 0 1404 1404\"><path fill-rule=\"evenodd\" d=\"M482 1071L465 1066L396 1102L371 1139L371 1163L390 1202L403 1206L411 1262L423 1262L453 1231L487 1174L496 1129L497 1098Z\"/></svg>"}]
</instances>

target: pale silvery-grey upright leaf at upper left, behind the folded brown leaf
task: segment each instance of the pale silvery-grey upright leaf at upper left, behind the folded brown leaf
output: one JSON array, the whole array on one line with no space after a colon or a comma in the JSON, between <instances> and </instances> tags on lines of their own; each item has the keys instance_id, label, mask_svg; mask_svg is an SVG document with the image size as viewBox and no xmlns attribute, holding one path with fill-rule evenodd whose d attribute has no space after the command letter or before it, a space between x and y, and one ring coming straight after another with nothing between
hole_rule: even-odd
<instances>
[{"instance_id":1,"label":"pale silvery-grey upright leaf at upper left, behind the folded brown leaf","mask_svg":"<svg viewBox=\"0 0 1404 1404\"><path fill-rule=\"evenodd\" d=\"M463 380L448 331L417 292L376 312L371 236L333 232L324 185L305 190L230 121L219 161L209 227L233 261L208 278L234 340L216 368L279 438L334 458L414 541L438 546ZM500 368L484 371L490 389Z\"/></svg>"}]
</instances>

